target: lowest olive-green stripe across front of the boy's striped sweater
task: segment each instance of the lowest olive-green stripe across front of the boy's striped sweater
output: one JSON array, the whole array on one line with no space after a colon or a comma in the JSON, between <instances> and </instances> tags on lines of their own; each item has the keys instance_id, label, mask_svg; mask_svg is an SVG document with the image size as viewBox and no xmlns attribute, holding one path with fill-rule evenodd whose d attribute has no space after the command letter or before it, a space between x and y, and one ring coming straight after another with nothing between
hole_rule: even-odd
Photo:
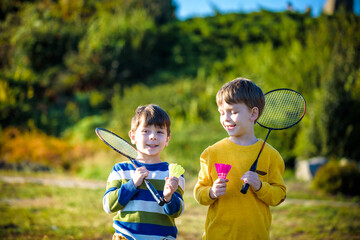
<instances>
[{"instance_id":1,"label":"lowest olive-green stripe across front of the boy's striped sweater","mask_svg":"<svg viewBox=\"0 0 360 240\"><path fill-rule=\"evenodd\" d=\"M120 211L115 217L114 220L123 221L123 222L133 222L133 223L150 223L156 225L162 225L167 227L174 227L175 221L173 218L160 214L160 213L149 213L149 212L122 212Z\"/></svg>"}]
</instances>

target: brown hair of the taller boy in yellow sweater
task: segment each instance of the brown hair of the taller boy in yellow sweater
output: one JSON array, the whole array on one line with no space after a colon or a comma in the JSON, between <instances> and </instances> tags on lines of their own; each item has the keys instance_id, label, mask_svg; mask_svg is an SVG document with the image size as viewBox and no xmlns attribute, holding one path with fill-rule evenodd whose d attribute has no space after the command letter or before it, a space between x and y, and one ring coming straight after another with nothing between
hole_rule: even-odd
<instances>
[{"instance_id":1,"label":"brown hair of the taller boy in yellow sweater","mask_svg":"<svg viewBox=\"0 0 360 240\"><path fill-rule=\"evenodd\" d=\"M244 103L250 109L257 107L259 117L265 106L265 97L261 88L246 78L236 78L220 88L216 94L216 103L220 106L224 101L227 104Z\"/></svg>"}]
</instances>

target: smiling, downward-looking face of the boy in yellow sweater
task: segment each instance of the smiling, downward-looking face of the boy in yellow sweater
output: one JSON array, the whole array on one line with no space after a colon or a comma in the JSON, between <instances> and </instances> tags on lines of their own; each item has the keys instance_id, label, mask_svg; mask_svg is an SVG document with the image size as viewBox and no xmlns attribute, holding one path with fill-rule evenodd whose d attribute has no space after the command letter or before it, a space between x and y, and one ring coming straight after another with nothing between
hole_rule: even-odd
<instances>
[{"instance_id":1,"label":"smiling, downward-looking face of the boy in yellow sweater","mask_svg":"<svg viewBox=\"0 0 360 240\"><path fill-rule=\"evenodd\" d=\"M254 137L254 124L258 116L256 107L250 109L244 103L228 104L224 101L218 110L220 123L229 134L230 140Z\"/></svg>"}]
</instances>

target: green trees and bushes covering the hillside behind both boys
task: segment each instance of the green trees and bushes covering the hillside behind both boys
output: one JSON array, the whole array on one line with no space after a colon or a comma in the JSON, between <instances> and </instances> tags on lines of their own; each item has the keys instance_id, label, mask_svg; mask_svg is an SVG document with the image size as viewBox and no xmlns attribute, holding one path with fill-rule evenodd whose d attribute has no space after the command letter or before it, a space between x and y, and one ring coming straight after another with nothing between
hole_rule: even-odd
<instances>
[{"instance_id":1,"label":"green trees and bushes covering the hillside behind both boys","mask_svg":"<svg viewBox=\"0 0 360 240\"><path fill-rule=\"evenodd\" d=\"M215 94L243 76L264 92L305 96L303 121L269 139L287 163L360 160L359 16L262 10L177 21L170 0L6 1L1 11L2 128L86 141L105 125L126 136L136 107L155 103L173 121L166 158L196 172L203 148L226 136Z\"/></svg>"}]
</instances>

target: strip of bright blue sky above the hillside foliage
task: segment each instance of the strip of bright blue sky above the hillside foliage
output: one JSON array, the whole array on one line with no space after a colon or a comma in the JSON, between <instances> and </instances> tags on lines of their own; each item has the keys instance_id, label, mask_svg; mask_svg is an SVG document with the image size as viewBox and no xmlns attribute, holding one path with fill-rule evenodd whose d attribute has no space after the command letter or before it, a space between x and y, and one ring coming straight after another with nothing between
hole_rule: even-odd
<instances>
[{"instance_id":1,"label":"strip of bright blue sky above the hillside foliage","mask_svg":"<svg viewBox=\"0 0 360 240\"><path fill-rule=\"evenodd\" d=\"M213 6L221 13L254 12L260 9L270 11L285 11L290 2L294 10L304 13L311 7L313 16L319 16L326 0L173 0L177 6L176 16L180 20L190 17L204 17L213 15ZM360 0L354 0L354 11L360 14Z\"/></svg>"}]
</instances>

